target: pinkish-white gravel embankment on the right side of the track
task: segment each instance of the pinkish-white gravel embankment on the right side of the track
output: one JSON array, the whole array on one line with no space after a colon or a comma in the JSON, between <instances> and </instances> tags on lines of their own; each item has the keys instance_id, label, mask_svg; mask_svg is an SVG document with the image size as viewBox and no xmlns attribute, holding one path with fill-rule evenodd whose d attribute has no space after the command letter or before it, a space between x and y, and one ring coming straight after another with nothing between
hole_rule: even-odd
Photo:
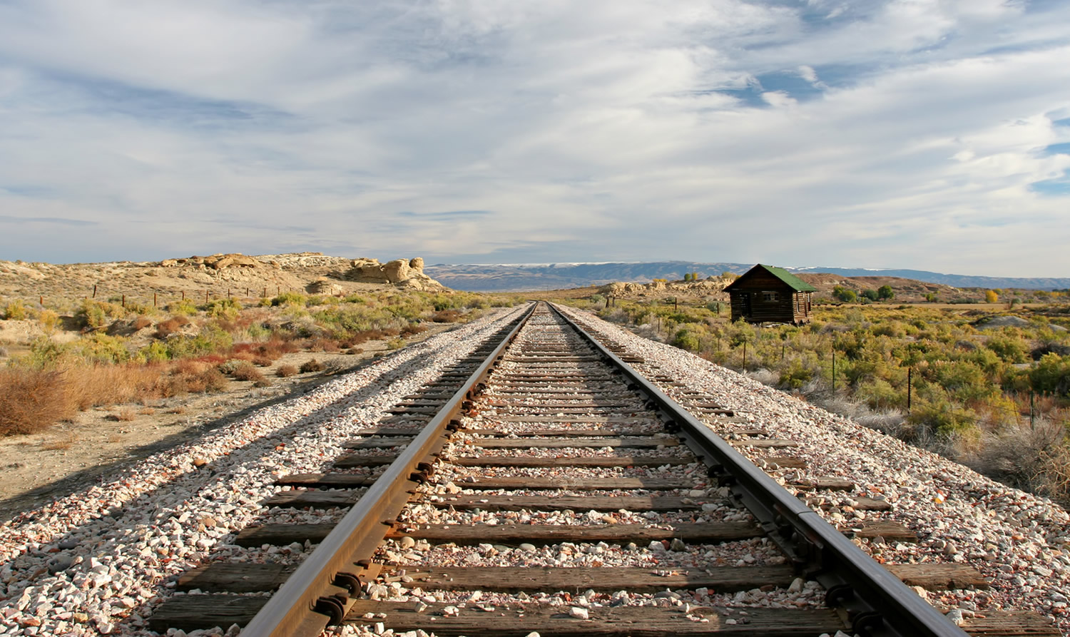
<instances>
[{"instance_id":1,"label":"pinkish-white gravel embankment on the right side of the track","mask_svg":"<svg viewBox=\"0 0 1070 637\"><path fill-rule=\"evenodd\" d=\"M1070 634L1070 516L1063 507L590 313L566 312L643 357L639 370L651 373L656 366L770 434L801 443L792 452L808 468L778 474L841 476L892 502L893 511L883 519L917 531L920 540L862 542L871 555L889 563L969 563L991 578L987 591L930 593L938 608L960 609L966 617L985 609L1029 609L1055 618L1063 633ZM832 522L844 516L836 510L823 515Z\"/></svg>"}]
</instances>

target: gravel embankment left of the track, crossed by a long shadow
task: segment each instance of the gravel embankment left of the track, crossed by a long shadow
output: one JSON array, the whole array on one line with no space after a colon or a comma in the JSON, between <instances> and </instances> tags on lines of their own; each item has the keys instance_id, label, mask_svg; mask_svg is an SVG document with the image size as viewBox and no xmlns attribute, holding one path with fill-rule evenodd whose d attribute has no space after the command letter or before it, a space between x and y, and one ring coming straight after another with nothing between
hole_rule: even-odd
<instances>
[{"instance_id":1,"label":"gravel embankment left of the track, crossed by a long shadow","mask_svg":"<svg viewBox=\"0 0 1070 637\"><path fill-rule=\"evenodd\" d=\"M154 635L143 628L150 609L178 574L217 547L226 552L228 539L264 513L277 475L322 471L353 431L520 312L404 348L4 524L0 635Z\"/></svg>"}]
</instances>

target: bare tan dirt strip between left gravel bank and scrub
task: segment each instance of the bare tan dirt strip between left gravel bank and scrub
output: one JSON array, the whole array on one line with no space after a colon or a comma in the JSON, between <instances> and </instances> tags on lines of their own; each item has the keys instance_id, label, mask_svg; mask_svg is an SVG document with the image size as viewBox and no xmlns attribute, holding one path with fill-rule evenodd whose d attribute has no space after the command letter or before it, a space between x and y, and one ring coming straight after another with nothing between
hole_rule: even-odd
<instances>
[{"instance_id":1,"label":"bare tan dirt strip between left gravel bank and scrub","mask_svg":"<svg viewBox=\"0 0 1070 637\"><path fill-rule=\"evenodd\" d=\"M455 325L432 323L407 338L416 343ZM80 412L73 422L27 436L0 438L0 522L20 512L95 484L102 476L159 451L196 439L274 401L306 391L333 376L360 368L387 351L385 340L361 344L357 354L296 352L285 354L261 371L270 388L231 380L215 394L190 394L116 405ZM316 359L324 370L278 378L280 365L301 366ZM132 420L124 420L132 419Z\"/></svg>"}]
</instances>

